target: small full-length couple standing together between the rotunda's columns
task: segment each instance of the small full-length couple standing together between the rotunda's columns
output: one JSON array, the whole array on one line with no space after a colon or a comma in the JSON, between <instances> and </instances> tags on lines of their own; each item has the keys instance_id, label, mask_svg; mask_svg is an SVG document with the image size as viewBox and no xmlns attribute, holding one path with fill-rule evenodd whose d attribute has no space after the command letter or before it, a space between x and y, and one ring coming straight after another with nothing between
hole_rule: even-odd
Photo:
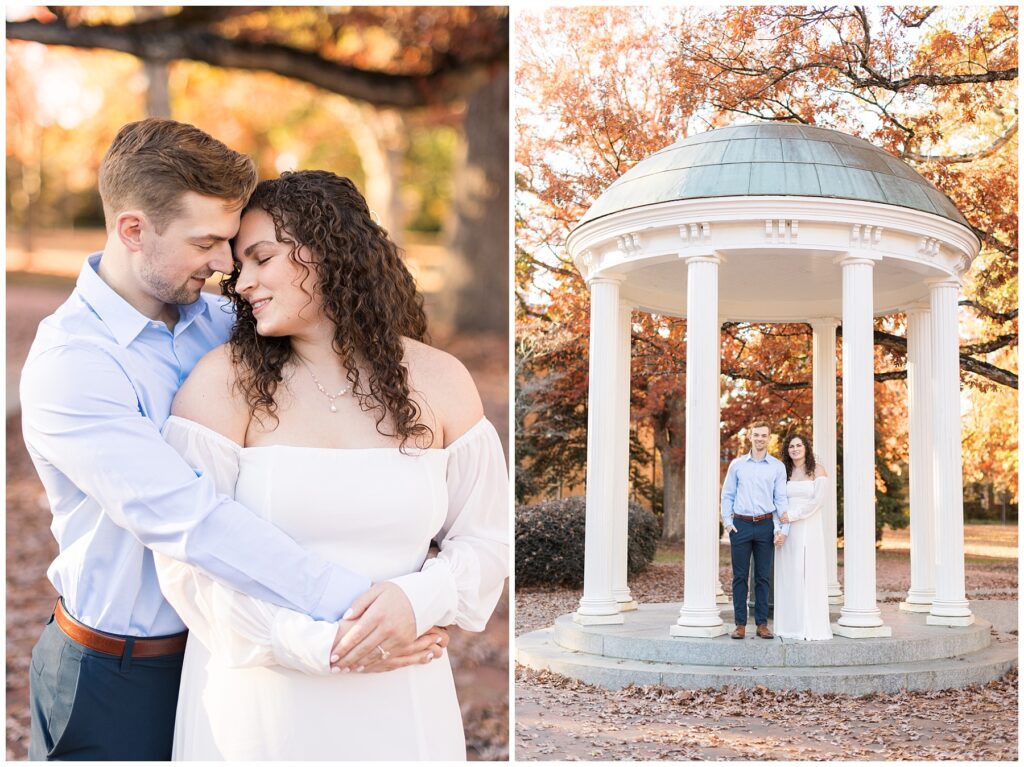
<instances>
[{"instance_id":1,"label":"small full-length couple standing together between the rotunda's columns","mask_svg":"<svg viewBox=\"0 0 1024 767\"><path fill-rule=\"evenodd\" d=\"M746 594L754 555L757 635L831 639L821 511L830 492L807 437L785 439L783 460L768 455L771 429L750 427L751 452L729 464L722 485L722 524L732 549L733 639L746 634ZM777 553L775 550L777 549ZM775 632L768 629L769 574L775 567Z\"/></svg>"}]
</instances>

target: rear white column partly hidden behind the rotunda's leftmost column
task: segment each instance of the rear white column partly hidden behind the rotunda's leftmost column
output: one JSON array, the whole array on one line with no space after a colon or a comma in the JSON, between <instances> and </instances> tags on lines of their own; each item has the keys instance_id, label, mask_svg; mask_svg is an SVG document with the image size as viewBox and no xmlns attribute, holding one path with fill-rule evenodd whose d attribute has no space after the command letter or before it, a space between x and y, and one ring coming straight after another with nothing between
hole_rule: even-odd
<instances>
[{"instance_id":1,"label":"rear white column partly hidden behind the rotunda's leftmost column","mask_svg":"<svg viewBox=\"0 0 1024 767\"><path fill-rule=\"evenodd\" d=\"M612 525L611 594L621 612L635 610L629 587L630 536L630 354L633 340L633 305L618 302L618 399L615 402L615 495Z\"/></svg>"}]
</instances>

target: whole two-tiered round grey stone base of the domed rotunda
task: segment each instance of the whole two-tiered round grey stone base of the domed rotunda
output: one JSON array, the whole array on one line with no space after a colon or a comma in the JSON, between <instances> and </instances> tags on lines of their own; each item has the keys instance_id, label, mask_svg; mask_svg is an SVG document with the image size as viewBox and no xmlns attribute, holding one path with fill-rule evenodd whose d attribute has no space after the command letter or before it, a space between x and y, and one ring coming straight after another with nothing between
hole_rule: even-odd
<instances>
[{"instance_id":1,"label":"whole two-tiered round grey stone base of the domed rotunda","mask_svg":"<svg viewBox=\"0 0 1024 767\"><path fill-rule=\"evenodd\" d=\"M620 626L579 626L562 615L553 627L520 636L516 659L612 689L670 687L799 689L863 695L900 689L944 689L998 679L1017 666L1017 642L992 643L991 625L929 626L926 615L880 605L891 637L805 642L673 637L678 604L642 604ZM838 610L834 612L838 616ZM722 611L726 626L729 610Z\"/></svg>"}]
</instances>

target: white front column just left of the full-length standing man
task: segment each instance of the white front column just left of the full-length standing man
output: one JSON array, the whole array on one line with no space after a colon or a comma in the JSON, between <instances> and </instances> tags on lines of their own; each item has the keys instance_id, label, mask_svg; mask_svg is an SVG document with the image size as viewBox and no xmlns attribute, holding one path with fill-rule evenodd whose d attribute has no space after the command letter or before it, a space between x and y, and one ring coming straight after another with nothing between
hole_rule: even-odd
<instances>
[{"instance_id":1,"label":"white front column just left of the full-length standing man","mask_svg":"<svg viewBox=\"0 0 1024 767\"><path fill-rule=\"evenodd\" d=\"M719 519L719 354L717 256L686 261L686 534L683 606L674 637L727 634L715 600Z\"/></svg>"}]
</instances>

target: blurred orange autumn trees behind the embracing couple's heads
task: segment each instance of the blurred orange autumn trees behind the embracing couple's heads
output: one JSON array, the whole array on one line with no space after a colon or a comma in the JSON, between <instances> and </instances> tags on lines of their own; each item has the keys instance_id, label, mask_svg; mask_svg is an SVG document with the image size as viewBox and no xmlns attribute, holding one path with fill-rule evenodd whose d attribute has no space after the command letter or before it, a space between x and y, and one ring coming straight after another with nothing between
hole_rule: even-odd
<instances>
[{"instance_id":1,"label":"blurred orange autumn trees behind the embracing couple's heads","mask_svg":"<svg viewBox=\"0 0 1024 767\"><path fill-rule=\"evenodd\" d=\"M106 146L127 122L170 117L250 155L261 177L352 178L407 248L435 322L507 329L507 9L7 14L8 269L68 271L57 252L80 262L96 247Z\"/></svg>"}]
</instances>

